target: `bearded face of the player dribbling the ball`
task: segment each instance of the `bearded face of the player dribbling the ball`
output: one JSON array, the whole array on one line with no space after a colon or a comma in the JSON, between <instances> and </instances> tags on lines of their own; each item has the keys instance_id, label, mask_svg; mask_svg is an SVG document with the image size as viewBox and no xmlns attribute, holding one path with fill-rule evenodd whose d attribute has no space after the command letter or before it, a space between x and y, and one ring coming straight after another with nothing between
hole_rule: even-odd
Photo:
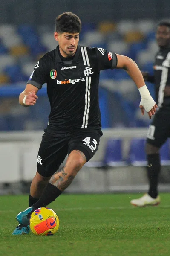
<instances>
[{"instance_id":1,"label":"bearded face of the player dribbling the ball","mask_svg":"<svg viewBox=\"0 0 170 256\"><path fill-rule=\"evenodd\" d=\"M58 41L60 53L63 57L72 57L77 49L79 33L54 33L55 40Z\"/></svg>"}]
</instances>

